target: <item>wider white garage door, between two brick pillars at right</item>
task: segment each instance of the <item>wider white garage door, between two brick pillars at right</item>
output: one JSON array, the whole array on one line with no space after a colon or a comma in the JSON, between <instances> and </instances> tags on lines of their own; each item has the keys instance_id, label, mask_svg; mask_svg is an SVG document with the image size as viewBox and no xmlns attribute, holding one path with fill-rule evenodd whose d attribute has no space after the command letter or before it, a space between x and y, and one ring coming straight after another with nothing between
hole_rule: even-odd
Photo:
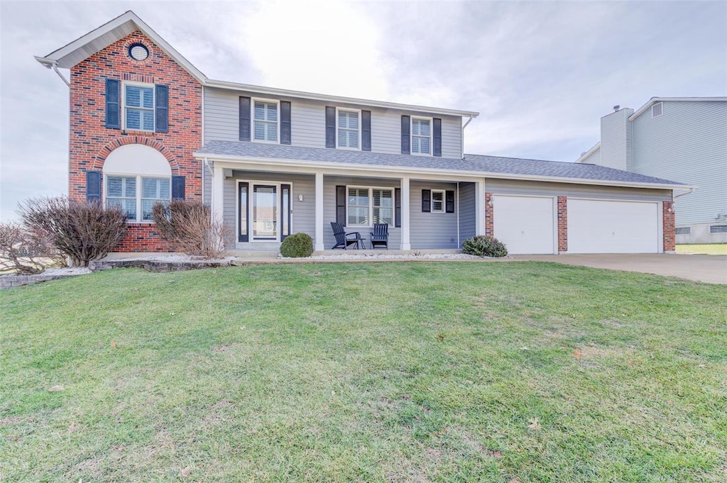
<instances>
[{"instance_id":1,"label":"wider white garage door, between two brick pillars at right","mask_svg":"<svg viewBox=\"0 0 727 483\"><path fill-rule=\"evenodd\" d=\"M656 253L659 203L568 200L568 253Z\"/></svg>"}]
</instances>

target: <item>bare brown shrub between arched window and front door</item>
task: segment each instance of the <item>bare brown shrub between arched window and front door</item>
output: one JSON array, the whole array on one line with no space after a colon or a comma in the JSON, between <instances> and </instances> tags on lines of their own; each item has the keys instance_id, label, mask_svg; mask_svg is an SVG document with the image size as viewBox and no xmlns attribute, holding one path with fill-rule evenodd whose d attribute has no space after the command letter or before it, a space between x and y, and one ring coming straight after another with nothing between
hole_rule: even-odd
<instances>
[{"instance_id":1,"label":"bare brown shrub between arched window and front door","mask_svg":"<svg viewBox=\"0 0 727 483\"><path fill-rule=\"evenodd\" d=\"M212 219L209 206L194 201L173 200L156 203L152 208L156 230L162 238L188 255L214 259L225 253L229 227Z\"/></svg>"}]
</instances>

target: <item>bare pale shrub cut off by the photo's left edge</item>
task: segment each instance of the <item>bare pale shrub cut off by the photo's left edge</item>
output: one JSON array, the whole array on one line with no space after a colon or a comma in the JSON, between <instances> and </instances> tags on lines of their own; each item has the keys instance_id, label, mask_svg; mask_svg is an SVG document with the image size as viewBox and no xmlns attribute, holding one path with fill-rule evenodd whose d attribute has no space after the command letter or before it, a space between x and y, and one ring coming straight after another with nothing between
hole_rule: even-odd
<instances>
[{"instance_id":1,"label":"bare pale shrub cut off by the photo's left edge","mask_svg":"<svg viewBox=\"0 0 727 483\"><path fill-rule=\"evenodd\" d=\"M35 275L63 264L63 253L57 251L47 234L18 223L0 224L0 272Z\"/></svg>"}]
</instances>

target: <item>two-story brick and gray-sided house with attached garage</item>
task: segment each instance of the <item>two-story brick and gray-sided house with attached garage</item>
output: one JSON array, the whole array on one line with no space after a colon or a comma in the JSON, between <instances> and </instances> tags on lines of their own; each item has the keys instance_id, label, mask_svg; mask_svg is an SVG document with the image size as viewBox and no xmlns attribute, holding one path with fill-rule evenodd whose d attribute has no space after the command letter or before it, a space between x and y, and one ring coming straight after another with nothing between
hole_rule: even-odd
<instances>
[{"instance_id":1,"label":"two-story brick and gray-sided house with attached garage","mask_svg":"<svg viewBox=\"0 0 727 483\"><path fill-rule=\"evenodd\" d=\"M294 232L332 248L330 222L389 246L459 248L494 235L510 253L674 250L672 190L578 163L463 155L470 110L214 81L133 12L45 57L71 70L69 195L119 205L118 251L168 251L150 207L201 200L228 248L277 250ZM466 121L466 122L463 122Z\"/></svg>"}]
</instances>

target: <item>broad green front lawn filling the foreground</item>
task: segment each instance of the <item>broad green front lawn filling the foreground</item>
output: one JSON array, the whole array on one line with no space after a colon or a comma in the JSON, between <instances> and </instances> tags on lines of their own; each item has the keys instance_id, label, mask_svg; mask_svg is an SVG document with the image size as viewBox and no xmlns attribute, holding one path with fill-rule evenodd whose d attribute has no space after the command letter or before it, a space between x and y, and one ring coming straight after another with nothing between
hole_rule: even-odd
<instances>
[{"instance_id":1,"label":"broad green front lawn filling the foreground","mask_svg":"<svg viewBox=\"0 0 727 483\"><path fill-rule=\"evenodd\" d=\"M13 288L0 481L724 482L726 304L535 262Z\"/></svg>"}]
</instances>

